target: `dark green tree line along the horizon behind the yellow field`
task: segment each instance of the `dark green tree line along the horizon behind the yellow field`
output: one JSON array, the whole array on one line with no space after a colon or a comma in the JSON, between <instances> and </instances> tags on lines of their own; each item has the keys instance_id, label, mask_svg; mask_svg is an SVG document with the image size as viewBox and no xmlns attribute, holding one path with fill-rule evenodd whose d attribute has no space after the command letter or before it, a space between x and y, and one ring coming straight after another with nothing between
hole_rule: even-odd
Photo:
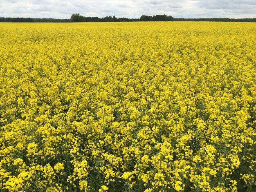
<instances>
[{"instance_id":1,"label":"dark green tree line along the horizon behind the yellow field","mask_svg":"<svg viewBox=\"0 0 256 192\"><path fill-rule=\"evenodd\" d=\"M222 21L222 22L256 22L256 18L173 18L167 15L142 15L138 18L117 18L116 16L85 17L79 13L72 14L70 19L54 19L54 18L4 18L0 17L0 22L124 22L124 21Z\"/></svg>"}]
</instances>

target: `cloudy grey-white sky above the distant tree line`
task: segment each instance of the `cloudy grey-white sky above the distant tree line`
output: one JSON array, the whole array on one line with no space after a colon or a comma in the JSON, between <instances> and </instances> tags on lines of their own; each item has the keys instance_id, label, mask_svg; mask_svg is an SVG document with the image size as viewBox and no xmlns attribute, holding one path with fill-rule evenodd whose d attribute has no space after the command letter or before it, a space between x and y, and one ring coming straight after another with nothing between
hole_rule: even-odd
<instances>
[{"instance_id":1,"label":"cloudy grey-white sky above the distant tree line","mask_svg":"<svg viewBox=\"0 0 256 192\"><path fill-rule=\"evenodd\" d=\"M0 0L0 17L256 18L256 0Z\"/></svg>"}]
</instances>

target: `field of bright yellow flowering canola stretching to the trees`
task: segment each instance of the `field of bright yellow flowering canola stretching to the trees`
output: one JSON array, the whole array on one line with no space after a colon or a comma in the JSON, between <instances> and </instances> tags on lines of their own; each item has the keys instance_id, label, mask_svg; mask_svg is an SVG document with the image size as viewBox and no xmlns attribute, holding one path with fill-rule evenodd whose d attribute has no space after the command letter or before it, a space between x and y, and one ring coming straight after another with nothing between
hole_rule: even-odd
<instances>
[{"instance_id":1,"label":"field of bright yellow flowering canola stretching to the trees","mask_svg":"<svg viewBox=\"0 0 256 192\"><path fill-rule=\"evenodd\" d=\"M256 190L256 24L0 24L0 191Z\"/></svg>"}]
</instances>

